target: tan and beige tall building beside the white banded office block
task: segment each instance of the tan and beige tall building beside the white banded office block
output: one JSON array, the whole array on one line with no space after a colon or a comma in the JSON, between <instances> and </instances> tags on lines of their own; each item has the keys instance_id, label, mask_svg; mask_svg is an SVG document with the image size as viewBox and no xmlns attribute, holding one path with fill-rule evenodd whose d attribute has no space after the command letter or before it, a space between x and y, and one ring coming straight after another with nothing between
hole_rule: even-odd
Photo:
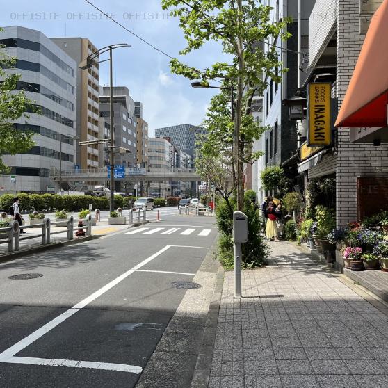
<instances>
[{"instance_id":1,"label":"tan and beige tall building beside the white banded office block","mask_svg":"<svg viewBox=\"0 0 388 388\"><path fill-rule=\"evenodd\" d=\"M97 51L95 45L87 38L51 38L76 61L76 136L79 141L98 140L99 138L99 65L88 70L80 70L79 63ZM99 146L78 147L76 164L81 169L99 167Z\"/></svg>"}]
</instances>

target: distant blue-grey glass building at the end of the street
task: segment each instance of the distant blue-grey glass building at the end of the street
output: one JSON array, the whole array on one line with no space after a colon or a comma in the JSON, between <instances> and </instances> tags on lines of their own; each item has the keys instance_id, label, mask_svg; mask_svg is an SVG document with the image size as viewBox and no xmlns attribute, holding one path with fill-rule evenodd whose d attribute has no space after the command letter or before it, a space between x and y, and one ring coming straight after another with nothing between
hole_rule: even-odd
<instances>
[{"instance_id":1,"label":"distant blue-grey glass building at the end of the street","mask_svg":"<svg viewBox=\"0 0 388 388\"><path fill-rule=\"evenodd\" d=\"M179 124L172 127L156 128L155 136L169 137L172 143L195 158L195 137L207 134L207 130L191 124Z\"/></svg>"}]
</instances>

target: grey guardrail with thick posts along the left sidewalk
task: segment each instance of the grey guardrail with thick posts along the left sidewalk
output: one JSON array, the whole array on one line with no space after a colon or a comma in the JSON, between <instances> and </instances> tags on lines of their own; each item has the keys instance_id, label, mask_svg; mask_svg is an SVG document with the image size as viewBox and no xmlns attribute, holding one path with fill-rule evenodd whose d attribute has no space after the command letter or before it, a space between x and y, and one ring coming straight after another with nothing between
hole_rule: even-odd
<instances>
[{"instance_id":1,"label":"grey guardrail with thick posts along the left sidewalk","mask_svg":"<svg viewBox=\"0 0 388 388\"><path fill-rule=\"evenodd\" d=\"M66 231L60 230L58 232L51 232L51 226L55 225L64 225L66 224ZM38 229L42 228L42 233L34 234L33 236L20 236L20 231L24 229ZM85 230L86 236L92 236L92 216L88 214L86 217L86 226L77 227L78 230ZM55 223L51 223L49 218L43 218L41 224L35 225L22 225L19 226L17 221L11 221L9 227L1 227L0 235L7 234L7 236L1 238L0 236L0 244L8 243L8 252L15 252L19 250L20 241L31 240L41 237L40 245L49 245L51 243L51 236L54 234L62 234L66 232L66 239L72 240L74 239L74 217L70 216L65 221L56 221Z\"/></svg>"}]
</instances>

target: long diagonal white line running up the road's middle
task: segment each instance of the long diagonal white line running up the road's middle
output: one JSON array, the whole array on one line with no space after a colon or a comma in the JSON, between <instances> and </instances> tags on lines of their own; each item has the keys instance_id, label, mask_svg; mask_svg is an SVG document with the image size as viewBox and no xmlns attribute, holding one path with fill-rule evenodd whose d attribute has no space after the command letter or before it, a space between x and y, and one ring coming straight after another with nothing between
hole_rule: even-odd
<instances>
[{"instance_id":1,"label":"long diagonal white line running up the road's middle","mask_svg":"<svg viewBox=\"0 0 388 388\"><path fill-rule=\"evenodd\" d=\"M40 339L43 335L47 334L50 330L56 328L60 323L65 321L67 318L70 318L70 316L76 314L76 312L79 312L83 307L88 305L93 300L99 298L99 296L102 296L106 291L109 291L114 286L122 282L122 280L126 279L129 275L132 275L132 273L136 272L136 270L140 269L141 267L145 266L145 264L148 264L149 261L152 261L156 257L160 256L163 252L171 248L171 245L165 245L164 248L159 250L158 252L152 254L152 256L148 257L147 259L141 261L139 264L131 268L130 270L127 270L127 272L124 272L122 275L116 277L114 280L106 284L101 289L95 291L87 298L81 300L81 302L74 305L72 308L66 310L63 314L60 314L53 320L49 321L45 325L42 326L42 328L39 328L38 330L35 330L35 332L31 333L29 336L25 337L24 339L20 340L19 342L15 343L15 345L11 346L10 348L3 351L3 353L0 353L0 362L14 362L15 359L18 359L18 357L14 357L15 354L22 351L27 346L31 345L31 343L35 342L37 339ZM21 357L25 358L25 357ZM70 360L71 362L71 360ZM99 363L97 363L99 364ZM58 365L60 366L60 365Z\"/></svg>"}]
</instances>

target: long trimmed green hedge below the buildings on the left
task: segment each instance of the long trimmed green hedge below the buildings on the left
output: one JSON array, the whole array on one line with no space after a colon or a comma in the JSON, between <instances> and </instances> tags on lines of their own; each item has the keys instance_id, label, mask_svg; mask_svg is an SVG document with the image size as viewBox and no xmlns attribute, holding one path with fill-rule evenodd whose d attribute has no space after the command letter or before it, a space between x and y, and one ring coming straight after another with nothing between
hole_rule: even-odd
<instances>
[{"instance_id":1,"label":"long trimmed green hedge below the buildings on the left","mask_svg":"<svg viewBox=\"0 0 388 388\"><path fill-rule=\"evenodd\" d=\"M8 213L9 208L13 204L13 198L19 197L20 208L22 211L79 211L80 209L89 209L89 204L92 204L92 209L108 210L108 197L92 197L91 195L59 195L59 194L26 194L19 193L3 194L0 196L0 210ZM172 198L172 199L171 199ZM118 207L127 207L129 202L134 204L135 197L122 197L115 195L115 209ZM175 202L176 197L170 197L170 202ZM166 200L164 198L155 198L155 207L165 207Z\"/></svg>"}]
</instances>

